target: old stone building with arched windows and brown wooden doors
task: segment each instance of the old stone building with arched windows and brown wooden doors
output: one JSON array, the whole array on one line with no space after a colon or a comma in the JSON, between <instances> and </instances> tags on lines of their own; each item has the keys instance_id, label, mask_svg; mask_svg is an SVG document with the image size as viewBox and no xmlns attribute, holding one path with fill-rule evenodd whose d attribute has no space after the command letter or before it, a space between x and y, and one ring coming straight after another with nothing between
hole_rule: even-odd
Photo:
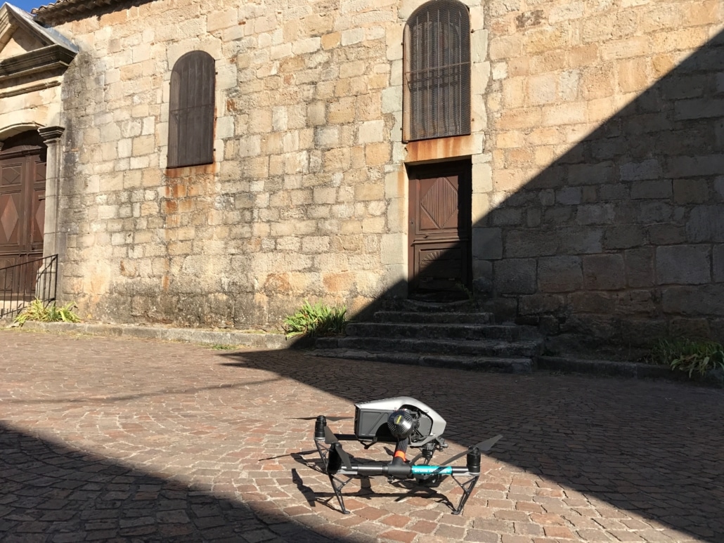
<instances>
[{"instance_id":1,"label":"old stone building with arched windows and brown wooden doors","mask_svg":"<svg viewBox=\"0 0 724 543\"><path fill-rule=\"evenodd\" d=\"M13 201L93 319L473 292L548 334L722 340L723 21L719 0L5 4L3 179L38 157Z\"/></svg>"}]
</instances>

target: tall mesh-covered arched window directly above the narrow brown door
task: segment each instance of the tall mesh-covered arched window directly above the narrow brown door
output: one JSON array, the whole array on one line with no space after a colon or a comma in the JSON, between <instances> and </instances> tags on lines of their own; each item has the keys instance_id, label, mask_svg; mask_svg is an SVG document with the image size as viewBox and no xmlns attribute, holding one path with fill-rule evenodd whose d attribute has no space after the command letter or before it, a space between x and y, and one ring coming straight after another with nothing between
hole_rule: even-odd
<instances>
[{"instance_id":1,"label":"tall mesh-covered arched window directly above the narrow brown door","mask_svg":"<svg viewBox=\"0 0 724 543\"><path fill-rule=\"evenodd\" d=\"M470 16L433 0L405 25L405 141L470 133Z\"/></svg>"}]
</instances>

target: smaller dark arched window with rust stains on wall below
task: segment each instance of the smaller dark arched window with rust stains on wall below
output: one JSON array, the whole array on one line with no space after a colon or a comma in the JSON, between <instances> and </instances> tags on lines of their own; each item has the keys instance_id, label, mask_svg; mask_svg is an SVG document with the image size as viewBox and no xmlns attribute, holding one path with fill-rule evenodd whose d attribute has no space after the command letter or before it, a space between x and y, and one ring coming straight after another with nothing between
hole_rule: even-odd
<instances>
[{"instance_id":1,"label":"smaller dark arched window with rust stains on wall below","mask_svg":"<svg viewBox=\"0 0 724 543\"><path fill-rule=\"evenodd\" d=\"M204 51L183 55L171 72L167 167L214 161L214 59Z\"/></svg>"}]
</instances>

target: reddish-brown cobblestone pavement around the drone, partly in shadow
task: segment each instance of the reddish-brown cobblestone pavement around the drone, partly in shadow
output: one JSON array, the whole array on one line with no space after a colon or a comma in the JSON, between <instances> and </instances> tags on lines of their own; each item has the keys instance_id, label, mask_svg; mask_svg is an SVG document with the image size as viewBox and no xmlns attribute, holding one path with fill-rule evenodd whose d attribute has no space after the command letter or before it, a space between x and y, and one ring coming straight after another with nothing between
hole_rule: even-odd
<instances>
[{"instance_id":1,"label":"reddish-brown cobblestone pavement around the drone, partly in shadow","mask_svg":"<svg viewBox=\"0 0 724 543\"><path fill-rule=\"evenodd\" d=\"M17 331L0 375L3 542L724 542L722 390ZM305 418L395 395L450 455L504 434L463 515L382 478L339 513Z\"/></svg>"}]
</instances>

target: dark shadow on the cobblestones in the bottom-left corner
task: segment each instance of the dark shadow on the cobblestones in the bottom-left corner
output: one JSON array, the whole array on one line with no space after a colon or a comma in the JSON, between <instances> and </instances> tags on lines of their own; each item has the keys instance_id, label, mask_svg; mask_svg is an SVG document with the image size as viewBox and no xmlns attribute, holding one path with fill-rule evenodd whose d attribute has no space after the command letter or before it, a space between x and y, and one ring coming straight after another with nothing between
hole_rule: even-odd
<instances>
[{"instance_id":1,"label":"dark shadow on the cobblestones in the bottom-left corner","mask_svg":"<svg viewBox=\"0 0 724 543\"><path fill-rule=\"evenodd\" d=\"M216 497L0 424L0 539L343 541L261 505ZM43 539L46 540L46 539Z\"/></svg>"}]
</instances>

